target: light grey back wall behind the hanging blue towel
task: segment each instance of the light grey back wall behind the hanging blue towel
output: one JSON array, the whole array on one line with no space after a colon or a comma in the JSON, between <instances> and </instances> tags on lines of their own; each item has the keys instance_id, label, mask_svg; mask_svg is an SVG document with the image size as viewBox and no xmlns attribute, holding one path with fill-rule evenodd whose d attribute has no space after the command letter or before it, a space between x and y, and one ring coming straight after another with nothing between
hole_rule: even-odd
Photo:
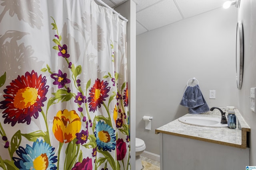
<instances>
[{"instance_id":1,"label":"light grey back wall behind the hanging blue towel","mask_svg":"<svg viewBox=\"0 0 256 170\"><path fill-rule=\"evenodd\" d=\"M136 137L146 151L160 154L155 129L188 113L180 106L188 79L198 79L209 107L236 106L236 22L234 6L218 8L136 37ZM151 131L143 115L153 117Z\"/></svg>"}]
</instances>

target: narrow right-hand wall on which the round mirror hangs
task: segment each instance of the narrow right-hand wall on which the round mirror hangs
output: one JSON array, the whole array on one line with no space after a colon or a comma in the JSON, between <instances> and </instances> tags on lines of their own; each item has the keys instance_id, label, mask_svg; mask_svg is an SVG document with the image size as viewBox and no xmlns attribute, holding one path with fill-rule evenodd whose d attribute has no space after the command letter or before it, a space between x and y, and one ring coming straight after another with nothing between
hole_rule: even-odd
<instances>
[{"instance_id":1,"label":"narrow right-hand wall on which the round mirror hangs","mask_svg":"<svg viewBox=\"0 0 256 170\"><path fill-rule=\"evenodd\" d=\"M238 90L238 109L251 128L250 164L256 166L256 113L250 110L250 88L256 87L256 1L241 0L238 20L244 27L244 78Z\"/></svg>"}]
</instances>

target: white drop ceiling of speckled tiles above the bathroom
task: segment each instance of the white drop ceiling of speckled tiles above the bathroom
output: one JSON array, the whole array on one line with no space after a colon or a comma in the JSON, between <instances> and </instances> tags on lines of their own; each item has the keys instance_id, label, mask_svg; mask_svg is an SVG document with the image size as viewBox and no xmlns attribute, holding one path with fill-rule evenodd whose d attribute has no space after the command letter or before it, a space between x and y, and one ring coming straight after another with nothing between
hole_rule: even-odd
<instances>
[{"instance_id":1,"label":"white drop ceiling of speckled tiles above the bathroom","mask_svg":"<svg viewBox=\"0 0 256 170\"><path fill-rule=\"evenodd\" d=\"M127 0L102 0L116 6ZM136 3L136 35L190 18L216 8L226 0L133 0Z\"/></svg>"}]
</instances>

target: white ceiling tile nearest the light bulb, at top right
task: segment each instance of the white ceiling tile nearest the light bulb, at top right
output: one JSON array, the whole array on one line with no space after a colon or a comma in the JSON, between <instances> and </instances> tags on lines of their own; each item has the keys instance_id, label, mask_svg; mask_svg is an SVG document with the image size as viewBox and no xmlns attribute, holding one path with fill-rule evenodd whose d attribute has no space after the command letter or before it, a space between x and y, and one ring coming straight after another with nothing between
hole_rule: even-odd
<instances>
[{"instance_id":1,"label":"white ceiling tile nearest the light bulb, at top right","mask_svg":"<svg viewBox=\"0 0 256 170\"><path fill-rule=\"evenodd\" d=\"M185 18L202 14L222 6L226 0L174 0Z\"/></svg>"}]
</instances>

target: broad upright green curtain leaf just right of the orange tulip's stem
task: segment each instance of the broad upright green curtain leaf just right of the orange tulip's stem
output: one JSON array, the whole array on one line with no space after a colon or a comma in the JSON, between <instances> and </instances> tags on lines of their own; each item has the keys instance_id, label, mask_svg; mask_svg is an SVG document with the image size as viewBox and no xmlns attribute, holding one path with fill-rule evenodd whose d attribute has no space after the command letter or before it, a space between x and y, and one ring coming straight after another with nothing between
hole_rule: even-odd
<instances>
[{"instance_id":1,"label":"broad upright green curtain leaf just right of the orange tulip's stem","mask_svg":"<svg viewBox=\"0 0 256 170\"><path fill-rule=\"evenodd\" d=\"M66 167L65 170L70 170L73 166L73 164L76 161L76 157L77 157L77 151L78 151L78 145L76 145L75 140L73 140L72 142L68 143L68 147L66 149Z\"/></svg>"}]
</instances>

